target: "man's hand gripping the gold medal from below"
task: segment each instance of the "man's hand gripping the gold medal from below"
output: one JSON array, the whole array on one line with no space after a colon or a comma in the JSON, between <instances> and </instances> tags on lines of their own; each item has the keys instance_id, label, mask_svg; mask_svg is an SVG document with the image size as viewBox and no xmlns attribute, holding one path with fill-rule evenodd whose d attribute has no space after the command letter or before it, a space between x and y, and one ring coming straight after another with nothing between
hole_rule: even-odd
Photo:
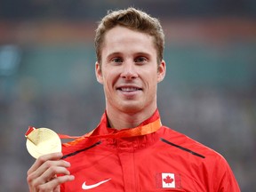
<instances>
[{"instance_id":1,"label":"man's hand gripping the gold medal from below","mask_svg":"<svg viewBox=\"0 0 256 192\"><path fill-rule=\"evenodd\" d=\"M70 164L60 159L62 156L62 153L52 153L36 159L35 164L28 170L30 192L59 192L61 183L75 179L68 172ZM57 177L57 174L61 176Z\"/></svg>"}]
</instances>

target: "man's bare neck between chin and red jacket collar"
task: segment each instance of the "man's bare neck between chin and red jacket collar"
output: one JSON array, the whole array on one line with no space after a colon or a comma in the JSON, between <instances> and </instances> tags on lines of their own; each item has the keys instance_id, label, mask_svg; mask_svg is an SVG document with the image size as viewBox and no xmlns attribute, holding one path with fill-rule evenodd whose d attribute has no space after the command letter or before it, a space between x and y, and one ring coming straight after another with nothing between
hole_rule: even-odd
<instances>
[{"instance_id":1,"label":"man's bare neck between chin and red jacket collar","mask_svg":"<svg viewBox=\"0 0 256 192\"><path fill-rule=\"evenodd\" d=\"M113 127L117 130L121 130L124 128L133 128L139 126L143 121L147 120L150 116L154 114L156 108L152 108L151 110L138 111L138 112L122 112L109 110L107 108L108 115L108 123L110 127Z\"/></svg>"}]
</instances>

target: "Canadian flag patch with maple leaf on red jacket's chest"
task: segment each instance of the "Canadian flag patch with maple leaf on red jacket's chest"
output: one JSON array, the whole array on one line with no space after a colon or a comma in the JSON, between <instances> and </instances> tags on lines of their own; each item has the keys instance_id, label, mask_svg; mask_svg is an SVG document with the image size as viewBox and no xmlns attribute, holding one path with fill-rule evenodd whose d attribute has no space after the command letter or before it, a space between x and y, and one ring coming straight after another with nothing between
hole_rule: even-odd
<instances>
[{"instance_id":1,"label":"Canadian flag patch with maple leaf on red jacket's chest","mask_svg":"<svg viewBox=\"0 0 256 192\"><path fill-rule=\"evenodd\" d=\"M180 174L161 172L156 174L157 188L181 188Z\"/></svg>"}]
</instances>

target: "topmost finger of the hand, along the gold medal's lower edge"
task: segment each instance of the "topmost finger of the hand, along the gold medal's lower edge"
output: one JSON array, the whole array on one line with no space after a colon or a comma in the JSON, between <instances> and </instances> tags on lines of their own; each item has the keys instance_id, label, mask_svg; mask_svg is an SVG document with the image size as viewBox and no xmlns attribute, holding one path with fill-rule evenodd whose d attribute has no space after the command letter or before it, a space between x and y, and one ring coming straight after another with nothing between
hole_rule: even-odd
<instances>
[{"instance_id":1,"label":"topmost finger of the hand, along the gold medal's lower edge","mask_svg":"<svg viewBox=\"0 0 256 192\"><path fill-rule=\"evenodd\" d=\"M28 174L30 174L31 172L35 172L38 169L38 167L44 164L44 162L48 160L59 160L62 156L62 153L52 153L40 156L39 158L36 159L36 162L30 167L30 169L28 170Z\"/></svg>"}]
</instances>

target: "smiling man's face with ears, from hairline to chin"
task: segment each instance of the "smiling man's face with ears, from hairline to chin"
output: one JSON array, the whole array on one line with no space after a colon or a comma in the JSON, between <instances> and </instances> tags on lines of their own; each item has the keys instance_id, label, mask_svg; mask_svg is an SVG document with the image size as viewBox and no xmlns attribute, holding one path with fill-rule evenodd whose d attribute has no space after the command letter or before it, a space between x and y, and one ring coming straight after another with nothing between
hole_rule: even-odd
<instances>
[{"instance_id":1,"label":"smiling man's face with ears, from hairline to chin","mask_svg":"<svg viewBox=\"0 0 256 192\"><path fill-rule=\"evenodd\" d=\"M164 79L164 60L157 65L153 37L124 27L104 38L96 76L103 84L106 109L124 113L156 110L157 83Z\"/></svg>"}]
</instances>

